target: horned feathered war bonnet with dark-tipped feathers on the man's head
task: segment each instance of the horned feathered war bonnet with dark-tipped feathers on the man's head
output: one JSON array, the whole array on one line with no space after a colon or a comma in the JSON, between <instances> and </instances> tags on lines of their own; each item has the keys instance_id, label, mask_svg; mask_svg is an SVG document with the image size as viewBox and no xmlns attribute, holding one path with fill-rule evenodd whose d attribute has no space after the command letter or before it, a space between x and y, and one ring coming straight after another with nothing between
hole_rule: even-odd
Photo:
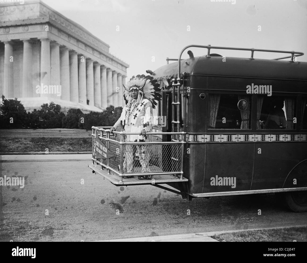
<instances>
[{"instance_id":1,"label":"horned feathered war bonnet with dark-tipped feathers on the man's head","mask_svg":"<svg viewBox=\"0 0 307 263\"><path fill-rule=\"evenodd\" d=\"M158 104L158 101L161 99L161 89L160 84L157 83L156 79L153 79L152 76L145 76L143 75L137 75L137 76L132 76L130 78L130 81L127 82L126 87L124 84L124 98L126 101L126 104L130 102L132 96L130 91L133 89L137 89L139 91L138 93L138 103L142 101L143 98L148 99L151 104L153 109L155 109L156 105Z\"/></svg>"}]
</instances>

